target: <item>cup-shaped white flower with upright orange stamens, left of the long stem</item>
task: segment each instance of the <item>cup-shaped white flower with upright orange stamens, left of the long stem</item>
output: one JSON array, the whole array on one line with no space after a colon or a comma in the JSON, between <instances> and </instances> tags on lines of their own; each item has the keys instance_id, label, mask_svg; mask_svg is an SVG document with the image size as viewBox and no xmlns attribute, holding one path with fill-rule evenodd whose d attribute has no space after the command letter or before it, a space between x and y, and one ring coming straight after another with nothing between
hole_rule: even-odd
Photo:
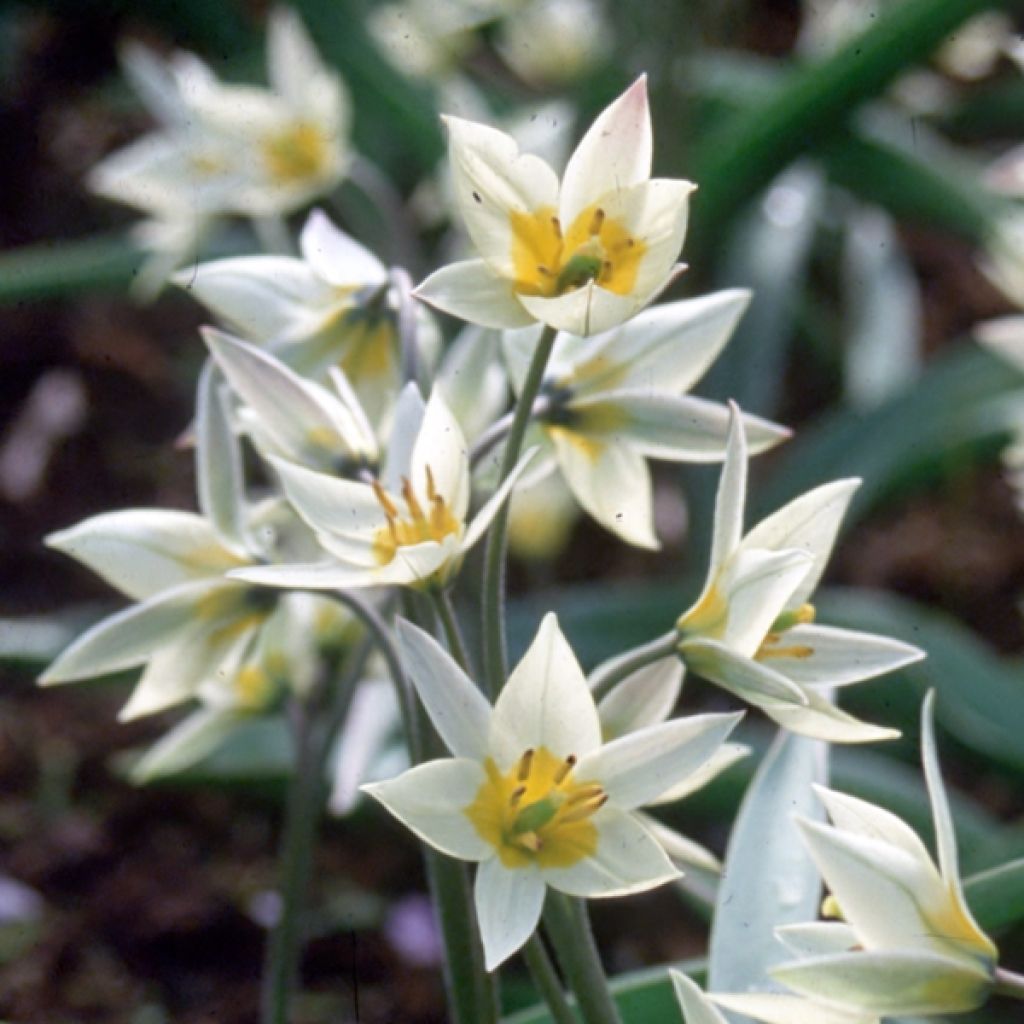
<instances>
[{"instance_id":1,"label":"cup-shaped white flower with upright orange stamens, left of the long stem","mask_svg":"<svg viewBox=\"0 0 1024 1024\"><path fill-rule=\"evenodd\" d=\"M530 454L469 523L466 441L437 391L424 404L406 387L380 480L366 483L272 460L295 511L329 560L240 570L271 587L444 586L483 536Z\"/></svg>"}]
</instances>

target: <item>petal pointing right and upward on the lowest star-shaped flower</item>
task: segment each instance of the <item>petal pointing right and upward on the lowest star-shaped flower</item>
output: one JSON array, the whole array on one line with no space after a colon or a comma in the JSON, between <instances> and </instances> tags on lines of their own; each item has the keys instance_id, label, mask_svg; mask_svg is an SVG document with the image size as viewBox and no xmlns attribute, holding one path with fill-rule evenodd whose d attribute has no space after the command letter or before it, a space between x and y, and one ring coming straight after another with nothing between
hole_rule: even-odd
<instances>
[{"instance_id":1,"label":"petal pointing right and upward on the lowest star-shaped flower","mask_svg":"<svg viewBox=\"0 0 1024 1024\"><path fill-rule=\"evenodd\" d=\"M700 768L741 718L694 715L649 725L582 757L573 777L599 782L615 807L632 810Z\"/></svg>"}]
</instances>

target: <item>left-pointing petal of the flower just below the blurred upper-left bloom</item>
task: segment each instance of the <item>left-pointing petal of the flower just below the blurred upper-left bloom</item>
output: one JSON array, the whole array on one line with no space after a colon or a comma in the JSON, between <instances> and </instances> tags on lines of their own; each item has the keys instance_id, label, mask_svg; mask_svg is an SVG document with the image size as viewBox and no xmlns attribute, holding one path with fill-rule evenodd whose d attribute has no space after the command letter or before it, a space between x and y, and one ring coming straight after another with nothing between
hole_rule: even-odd
<instances>
[{"instance_id":1,"label":"left-pointing petal of the flower just below the blurred upper-left bloom","mask_svg":"<svg viewBox=\"0 0 1024 1024\"><path fill-rule=\"evenodd\" d=\"M228 327L257 342L312 330L333 301L309 267L288 256L200 263L173 280Z\"/></svg>"}]
</instances>

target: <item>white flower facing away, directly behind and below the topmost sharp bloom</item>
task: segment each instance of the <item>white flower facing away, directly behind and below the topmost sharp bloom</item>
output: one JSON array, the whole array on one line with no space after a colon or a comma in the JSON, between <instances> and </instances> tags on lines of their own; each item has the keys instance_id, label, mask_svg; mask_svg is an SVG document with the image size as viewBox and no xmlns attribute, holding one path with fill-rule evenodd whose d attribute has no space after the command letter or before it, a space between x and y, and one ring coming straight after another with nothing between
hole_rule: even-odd
<instances>
[{"instance_id":1,"label":"white flower facing away, directly behind and below the topmost sharp bloom","mask_svg":"<svg viewBox=\"0 0 1024 1024\"><path fill-rule=\"evenodd\" d=\"M547 462L561 470L587 512L624 541L658 547L647 459L723 457L728 409L683 392L715 360L749 301L749 292L731 289L646 309L597 337L558 337L541 388L548 406L537 417ZM505 336L517 390L539 331ZM788 436L758 417L744 423L755 452Z\"/></svg>"}]
</instances>

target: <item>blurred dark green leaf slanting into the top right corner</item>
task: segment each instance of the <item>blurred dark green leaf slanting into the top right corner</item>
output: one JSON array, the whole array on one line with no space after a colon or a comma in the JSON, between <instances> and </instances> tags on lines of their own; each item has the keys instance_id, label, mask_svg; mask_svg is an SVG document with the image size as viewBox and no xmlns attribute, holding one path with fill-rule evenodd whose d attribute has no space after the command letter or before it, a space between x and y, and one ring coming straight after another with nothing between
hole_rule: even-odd
<instances>
[{"instance_id":1,"label":"blurred dark green leaf slanting into the top right corner","mask_svg":"<svg viewBox=\"0 0 1024 1024\"><path fill-rule=\"evenodd\" d=\"M906 0L891 4L874 25L835 55L794 73L777 93L737 115L705 139L696 154L699 202L693 236L714 245L726 222L787 164L824 141L866 100L924 60L986 0Z\"/></svg>"}]
</instances>

